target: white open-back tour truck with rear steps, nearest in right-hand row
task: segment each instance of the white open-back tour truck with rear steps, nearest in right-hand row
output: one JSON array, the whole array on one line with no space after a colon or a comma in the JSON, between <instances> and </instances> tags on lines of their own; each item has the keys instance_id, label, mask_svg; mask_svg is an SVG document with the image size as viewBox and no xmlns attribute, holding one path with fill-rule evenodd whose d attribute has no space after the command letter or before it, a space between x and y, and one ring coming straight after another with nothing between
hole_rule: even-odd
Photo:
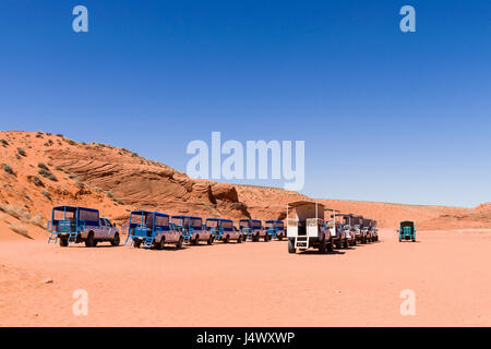
<instances>
[{"instance_id":1,"label":"white open-back tour truck with rear steps, nearest in right-hand row","mask_svg":"<svg viewBox=\"0 0 491 349\"><path fill-rule=\"evenodd\" d=\"M313 201L287 204L288 252L319 249L320 253L333 251L331 233L324 225L324 205Z\"/></svg>"}]
</instances>

